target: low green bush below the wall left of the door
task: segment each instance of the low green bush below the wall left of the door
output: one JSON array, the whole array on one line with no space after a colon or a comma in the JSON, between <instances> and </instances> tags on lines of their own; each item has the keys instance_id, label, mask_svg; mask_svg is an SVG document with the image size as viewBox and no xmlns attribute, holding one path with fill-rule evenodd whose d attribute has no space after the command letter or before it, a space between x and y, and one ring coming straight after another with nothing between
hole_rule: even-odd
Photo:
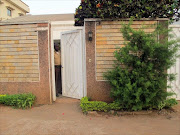
<instances>
[{"instance_id":1,"label":"low green bush below the wall left of the door","mask_svg":"<svg viewBox=\"0 0 180 135\"><path fill-rule=\"evenodd\" d=\"M16 95L1 95L0 104L26 109L32 107L35 98L36 97L31 93L16 94Z\"/></svg>"}]
</instances>

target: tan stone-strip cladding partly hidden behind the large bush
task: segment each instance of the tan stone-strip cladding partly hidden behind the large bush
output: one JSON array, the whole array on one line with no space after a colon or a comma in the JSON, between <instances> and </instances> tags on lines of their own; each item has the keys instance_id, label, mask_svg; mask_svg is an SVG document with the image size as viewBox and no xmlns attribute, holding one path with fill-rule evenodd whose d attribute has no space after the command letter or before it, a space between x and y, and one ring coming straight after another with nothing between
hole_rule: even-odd
<instances>
[{"instance_id":1,"label":"tan stone-strip cladding partly hidden behind the large bush","mask_svg":"<svg viewBox=\"0 0 180 135\"><path fill-rule=\"evenodd\" d=\"M124 39L120 32L122 23L128 21L102 21L96 25L96 79L104 80L103 73L112 69L114 64L114 51L123 47ZM134 21L131 27L135 30L143 29L153 32L157 21Z\"/></svg>"}]
</instances>

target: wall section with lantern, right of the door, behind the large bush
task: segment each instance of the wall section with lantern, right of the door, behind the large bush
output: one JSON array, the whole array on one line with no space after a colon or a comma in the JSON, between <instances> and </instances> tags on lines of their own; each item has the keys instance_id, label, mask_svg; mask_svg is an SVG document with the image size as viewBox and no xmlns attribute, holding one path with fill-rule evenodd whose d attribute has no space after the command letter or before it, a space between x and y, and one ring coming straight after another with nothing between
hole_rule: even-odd
<instances>
[{"instance_id":1,"label":"wall section with lantern, right of the door, behind the large bush","mask_svg":"<svg viewBox=\"0 0 180 135\"><path fill-rule=\"evenodd\" d=\"M85 20L87 96L93 100L112 101L109 97L110 86L103 78L103 73L113 68L114 51L125 45L120 31L122 21L124 23L129 22L128 19L120 21ZM155 30L154 26L165 22L167 22L167 19L144 19L133 21L132 27L134 29L143 29L145 32L153 32ZM92 41L88 41L89 31L93 32Z\"/></svg>"}]
</instances>

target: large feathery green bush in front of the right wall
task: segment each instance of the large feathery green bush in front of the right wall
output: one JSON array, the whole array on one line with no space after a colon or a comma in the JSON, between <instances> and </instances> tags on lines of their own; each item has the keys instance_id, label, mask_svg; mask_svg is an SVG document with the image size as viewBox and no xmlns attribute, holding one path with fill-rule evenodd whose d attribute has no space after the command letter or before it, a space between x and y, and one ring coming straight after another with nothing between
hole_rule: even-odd
<instances>
[{"instance_id":1,"label":"large feathery green bush in front of the right wall","mask_svg":"<svg viewBox=\"0 0 180 135\"><path fill-rule=\"evenodd\" d=\"M168 99L174 93L166 91L167 74L175 60L179 43L167 38L157 41L157 34L167 34L168 30L157 27L154 33L135 31L123 25L122 33L126 46L115 51L115 68L105 73L112 87L111 96L125 110L162 109L174 105L175 99ZM173 103L171 104L171 101Z\"/></svg>"}]
</instances>

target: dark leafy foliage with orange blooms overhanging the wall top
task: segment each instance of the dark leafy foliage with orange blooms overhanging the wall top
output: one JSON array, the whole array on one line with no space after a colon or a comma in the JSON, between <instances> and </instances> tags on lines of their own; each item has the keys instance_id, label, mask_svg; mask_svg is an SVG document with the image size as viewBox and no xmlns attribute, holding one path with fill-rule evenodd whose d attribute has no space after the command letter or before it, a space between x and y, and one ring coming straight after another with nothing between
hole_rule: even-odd
<instances>
[{"instance_id":1,"label":"dark leafy foliage with orange blooms overhanging the wall top","mask_svg":"<svg viewBox=\"0 0 180 135\"><path fill-rule=\"evenodd\" d=\"M75 13L75 26L84 18L169 18L179 20L180 0L82 0Z\"/></svg>"}]
</instances>

